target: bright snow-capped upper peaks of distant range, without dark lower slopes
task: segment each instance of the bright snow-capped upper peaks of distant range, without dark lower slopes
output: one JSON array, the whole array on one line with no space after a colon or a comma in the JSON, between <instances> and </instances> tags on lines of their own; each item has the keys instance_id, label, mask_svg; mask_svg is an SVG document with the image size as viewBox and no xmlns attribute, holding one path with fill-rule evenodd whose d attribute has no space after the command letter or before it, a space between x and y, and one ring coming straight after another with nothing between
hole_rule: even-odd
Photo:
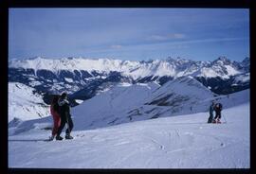
<instances>
[{"instance_id":1,"label":"bright snow-capped upper peaks of distant range, without dark lower slopes","mask_svg":"<svg viewBox=\"0 0 256 174\"><path fill-rule=\"evenodd\" d=\"M205 78L229 78L229 76L248 72L249 59L246 58L242 62L229 61L225 57L220 57L215 61L191 61L180 58L155 61L120 61L82 58L51 60L38 57L35 59L9 61L9 68L31 69L35 75L40 73L40 70L47 70L53 72L53 74L58 74L61 70L66 70L72 72L74 75L82 75L81 71L83 70L87 71L90 75L93 75L93 71L101 73L116 71L133 79L149 76L171 76L177 78L188 75Z\"/></svg>"}]
</instances>

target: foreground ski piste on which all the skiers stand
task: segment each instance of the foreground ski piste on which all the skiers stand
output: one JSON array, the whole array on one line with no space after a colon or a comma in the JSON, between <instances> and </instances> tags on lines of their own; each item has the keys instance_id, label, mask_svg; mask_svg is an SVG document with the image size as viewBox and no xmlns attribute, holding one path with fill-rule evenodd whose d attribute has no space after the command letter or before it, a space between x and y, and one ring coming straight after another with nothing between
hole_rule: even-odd
<instances>
[{"instance_id":1,"label":"foreground ski piste on which all the skiers stand","mask_svg":"<svg viewBox=\"0 0 256 174\"><path fill-rule=\"evenodd\" d=\"M9 167L249 168L249 90L220 101L229 106L222 124L207 124L209 112L200 112L76 129L81 118L74 119L74 139L63 141L44 141L50 116L16 120L9 124Z\"/></svg>"}]
</instances>

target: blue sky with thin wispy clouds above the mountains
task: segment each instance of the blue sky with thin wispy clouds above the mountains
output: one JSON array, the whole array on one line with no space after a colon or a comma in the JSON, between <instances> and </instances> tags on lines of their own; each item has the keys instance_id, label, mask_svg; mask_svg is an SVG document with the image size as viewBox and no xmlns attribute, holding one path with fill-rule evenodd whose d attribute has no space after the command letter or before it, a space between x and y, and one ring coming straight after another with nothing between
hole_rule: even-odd
<instances>
[{"instance_id":1,"label":"blue sky with thin wispy clouds above the mountains","mask_svg":"<svg viewBox=\"0 0 256 174\"><path fill-rule=\"evenodd\" d=\"M248 9L9 9L9 59L249 57Z\"/></svg>"}]
</instances>

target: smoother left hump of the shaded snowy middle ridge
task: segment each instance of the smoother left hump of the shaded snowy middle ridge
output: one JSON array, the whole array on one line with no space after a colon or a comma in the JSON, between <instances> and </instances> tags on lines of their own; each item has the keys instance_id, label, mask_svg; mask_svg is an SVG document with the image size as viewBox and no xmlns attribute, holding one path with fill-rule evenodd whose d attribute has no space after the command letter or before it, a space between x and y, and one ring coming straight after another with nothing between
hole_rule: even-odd
<instances>
[{"instance_id":1,"label":"smoother left hump of the shaded snowy middle ridge","mask_svg":"<svg viewBox=\"0 0 256 174\"><path fill-rule=\"evenodd\" d=\"M78 128L92 129L132 121L132 111L145 102L146 98L159 87L149 84L120 83L112 89L85 100L72 109L74 119L80 120ZM139 119L146 119L141 116ZM134 121L134 120L133 120Z\"/></svg>"}]
</instances>

